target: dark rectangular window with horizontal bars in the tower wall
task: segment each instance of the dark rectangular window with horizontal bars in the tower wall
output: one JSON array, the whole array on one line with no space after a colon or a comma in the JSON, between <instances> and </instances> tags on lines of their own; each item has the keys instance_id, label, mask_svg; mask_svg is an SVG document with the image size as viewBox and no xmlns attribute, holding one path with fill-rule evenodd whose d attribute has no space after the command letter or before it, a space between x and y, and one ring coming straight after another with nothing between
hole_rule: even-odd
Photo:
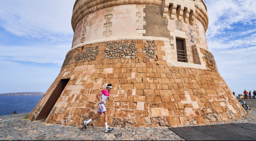
<instances>
[{"instance_id":1,"label":"dark rectangular window with horizontal bars in the tower wall","mask_svg":"<svg viewBox=\"0 0 256 141\"><path fill-rule=\"evenodd\" d=\"M184 49L184 40L176 39L177 58L179 62L186 62L186 51Z\"/></svg>"}]
</instances>

